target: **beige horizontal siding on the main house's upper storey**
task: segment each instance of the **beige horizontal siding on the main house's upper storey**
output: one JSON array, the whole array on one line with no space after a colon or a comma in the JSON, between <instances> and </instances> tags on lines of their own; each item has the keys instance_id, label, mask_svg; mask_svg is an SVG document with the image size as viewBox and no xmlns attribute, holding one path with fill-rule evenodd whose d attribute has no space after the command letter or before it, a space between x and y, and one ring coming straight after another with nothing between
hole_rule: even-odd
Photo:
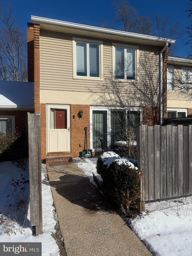
<instances>
[{"instance_id":1,"label":"beige horizontal siding on the main house's upper storey","mask_svg":"<svg viewBox=\"0 0 192 256\"><path fill-rule=\"evenodd\" d=\"M106 93L116 91L123 94L135 94L138 91L138 93L143 93L146 104L149 104L149 99L147 99L149 94L153 92L157 94L160 52L158 47L142 46L139 48L138 81L113 81L113 42L109 41L103 42L103 80L73 79L72 38L72 35L40 32L41 90L72 91L76 94L87 92L90 93L90 97L93 93L99 93L98 99L101 99L102 96L101 88ZM43 95L43 92L41 94ZM154 103L154 99L151 101L153 105L158 104Z\"/></svg>"}]
</instances>

